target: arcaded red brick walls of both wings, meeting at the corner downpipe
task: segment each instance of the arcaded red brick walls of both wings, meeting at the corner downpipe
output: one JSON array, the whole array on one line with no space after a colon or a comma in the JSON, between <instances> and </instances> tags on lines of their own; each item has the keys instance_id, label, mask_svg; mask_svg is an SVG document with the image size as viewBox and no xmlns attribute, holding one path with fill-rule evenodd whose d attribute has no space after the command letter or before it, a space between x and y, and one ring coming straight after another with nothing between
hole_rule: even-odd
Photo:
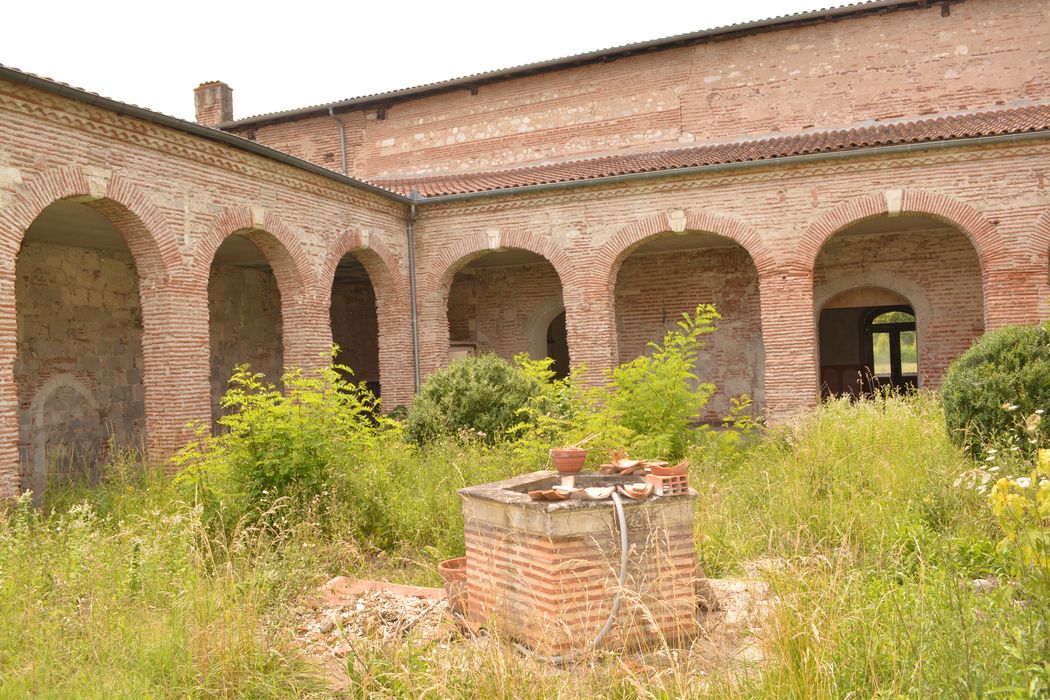
<instances>
[{"instance_id":1,"label":"arcaded red brick walls of both wings, meeting at the corner downpipe","mask_svg":"<svg viewBox=\"0 0 1050 700\"><path fill-rule=\"evenodd\" d=\"M952 17L987 5L952 5ZM1010 56L1004 58L1004 85L1013 75ZM924 367L943 366L963 346L962 336L951 335L961 319L970 324L965 333L973 334L979 322L996 327L1043 317L1050 299L1048 164L1050 147L1028 142L424 205L415 251L423 374L447 360L455 273L480 253L520 248L556 271L572 362L596 381L621 355L614 294L621 263L626 258L629 271L630 252L657 234L706 231L747 250L756 271L764 354L759 408L774 418L798 411L817 400L814 270L824 274L820 251L831 241L832 255L839 245L834 236L844 227L898 210L953 224L972 248L973 257L958 249L959 257L919 274L914 271L923 270L931 254L956 250L951 241L932 231L918 243L885 243L900 256L895 264L901 276L917 275L915 287L933 310L930 327L921 331L924 352L931 354ZM405 207L226 145L0 82L0 426L7 426L0 429L0 492L14 493L20 483L15 260L37 214L64 197L78 197L108 218L134 261L146 436L155 457L190 437L188 421L211 415L208 279L215 250L233 232L248 232L273 270L289 364L318 362L328 349L335 269L352 252L376 294L386 405L407 401ZM842 262L843 275L859 275L856 252L835 255L855 255L854 263ZM970 267L960 267L964 262ZM723 311L731 305L723 301ZM954 315L957 306L965 313ZM951 315L943 311L949 307ZM513 318L518 312L501 313ZM743 377L750 370L739 372Z\"/></svg>"}]
</instances>

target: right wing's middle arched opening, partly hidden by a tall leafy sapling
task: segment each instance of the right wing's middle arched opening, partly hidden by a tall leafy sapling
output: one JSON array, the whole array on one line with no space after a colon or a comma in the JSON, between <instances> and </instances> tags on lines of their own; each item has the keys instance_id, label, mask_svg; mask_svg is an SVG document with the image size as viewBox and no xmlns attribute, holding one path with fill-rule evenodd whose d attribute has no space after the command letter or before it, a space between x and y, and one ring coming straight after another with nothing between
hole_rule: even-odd
<instances>
[{"instance_id":1,"label":"right wing's middle arched opening, partly hidden by a tall leafy sapling","mask_svg":"<svg viewBox=\"0 0 1050 700\"><path fill-rule=\"evenodd\" d=\"M716 333L705 338L697 376L713 382L702 420L715 421L731 408L730 399L748 395L764 400L764 351L758 271L741 246L713 233L689 231L646 238L624 258L616 274L618 359L648 351L700 303L721 315Z\"/></svg>"}]
</instances>

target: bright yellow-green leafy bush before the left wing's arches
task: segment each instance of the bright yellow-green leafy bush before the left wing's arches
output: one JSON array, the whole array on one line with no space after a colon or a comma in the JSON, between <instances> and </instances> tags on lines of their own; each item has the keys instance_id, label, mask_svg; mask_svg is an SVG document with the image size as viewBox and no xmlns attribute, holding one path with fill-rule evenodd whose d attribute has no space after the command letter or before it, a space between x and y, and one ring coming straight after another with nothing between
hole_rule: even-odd
<instances>
[{"instance_id":1,"label":"bright yellow-green leafy bush before the left wing's arches","mask_svg":"<svg viewBox=\"0 0 1050 700\"><path fill-rule=\"evenodd\" d=\"M209 509L260 514L279 499L302 503L324 491L336 465L379 440L392 423L363 385L343 379L350 368L292 370L285 390L247 365L234 370L222 406L223 434L192 443L175 458L180 483Z\"/></svg>"}]
</instances>

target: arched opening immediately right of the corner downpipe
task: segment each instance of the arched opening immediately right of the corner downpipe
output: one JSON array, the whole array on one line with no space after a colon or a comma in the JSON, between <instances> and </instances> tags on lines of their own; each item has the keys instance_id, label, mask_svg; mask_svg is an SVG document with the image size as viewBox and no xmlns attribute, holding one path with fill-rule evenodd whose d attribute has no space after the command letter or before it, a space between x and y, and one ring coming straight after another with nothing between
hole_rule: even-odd
<instances>
[{"instance_id":1,"label":"arched opening immediately right of the corner downpipe","mask_svg":"<svg viewBox=\"0 0 1050 700\"><path fill-rule=\"evenodd\" d=\"M449 357L549 355L547 336L559 315L564 326L564 311L558 271L542 255L512 248L474 256L456 272L448 290ZM558 345L556 325L553 338L567 374L568 342ZM554 361L556 365L559 359Z\"/></svg>"}]
</instances>

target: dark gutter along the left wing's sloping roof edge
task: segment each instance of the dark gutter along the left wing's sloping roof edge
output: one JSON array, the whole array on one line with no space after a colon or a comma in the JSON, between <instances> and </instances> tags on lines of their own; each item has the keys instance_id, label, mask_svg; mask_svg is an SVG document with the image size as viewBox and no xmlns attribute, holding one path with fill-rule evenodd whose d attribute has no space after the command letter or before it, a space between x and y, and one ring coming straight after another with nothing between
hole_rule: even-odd
<instances>
[{"instance_id":1,"label":"dark gutter along the left wing's sloping roof edge","mask_svg":"<svg viewBox=\"0 0 1050 700\"><path fill-rule=\"evenodd\" d=\"M209 141L215 141L227 146L232 146L233 148L248 151L249 153L254 153L256 155L261 155L268 157L272 161L278 161L286 165L290 165L308 172L312 172L315 175L321 175L322 177L328 177L329 179L334 179L337 183L342 183L343 185L349 185L355 189L363 190L365 192L371 192L372 194L377 194L386 199L392 199L400 204L408 204L411 199L403 194L398 192L393 192L391 190L384 189L382 187L377 187L371 183L365 183L348 175L340 175L334 170L329 170L328 168L322 168L318 165L314 165L308 161L297 158L294 155L289 155L288 153L282 153L281 151L268 148L254 141L249 141L243 139L242 136L236 136L232 133L226 131L219 131L218 129L212 129L207 126L201 126L200 124L194 124L193 122L187 122L185 120L177 119L175 116L168 116L167 114L162 114L160 112L154 112L150 109L145 109L143 107L136 107L134 105L129 105L125 102L120 102L118 100L110 100L109 98L103 98L102 96L94 94L93 92L88 92L86 90L81 90L63 83L57 83L45 78L39 78L27 72L22 72L15 68L8 68L7 66L0 65L0 80L6 80L12 83L19 83L22 85L28 85L45 92L50 92L52 94L59 94L63 98L69 98L70 100L76 100L78 102L84 102L89 105L94 105L96 107L102 107L103 109L108 109L109 111L117 112L118 114L124 114L126 116L131 116L134 119L140 119L146 122L152 122L153 124L160 124L171 129L176 129L178 131L184 131L186 133L193 134L194 136L201 136Z\"/></svg>"}]
</instances>

